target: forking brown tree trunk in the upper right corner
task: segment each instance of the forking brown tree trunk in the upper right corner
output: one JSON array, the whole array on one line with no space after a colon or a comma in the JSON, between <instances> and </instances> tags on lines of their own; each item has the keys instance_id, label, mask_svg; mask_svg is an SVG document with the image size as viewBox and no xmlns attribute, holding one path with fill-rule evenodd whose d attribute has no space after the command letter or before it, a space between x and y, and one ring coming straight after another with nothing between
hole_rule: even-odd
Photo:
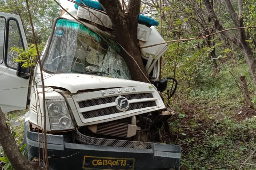
<instances>
[{"instance_id":1,"label":"forking brown tree trunk in the upper right corner","mask_svg":"<svg viewBox=\"0 0 256 170\"><path fill-rule=\"evenodd\" d=\"M238 0L238 16L235 13L235 10L232 6L232 3L230 0L224 0L226 7L228 9L228 12L231 16L231 19L233 20L234 24L236 27L244 27L243 25L243 17L242 17L242 0ZM212 5L210 4L209 0L203 0L203 3L209 13L209 16L211 17L211 19L213 21L215 21L215 27L219 30L222 31L224 30L223 26L220 24ZM249 67L251 76L253 78L253 82L254 84L256 84L256 59L253 56L253 52L249 45L249 42L246 42L247 37L245 34L245 29L239 29L237 30L237 37L233 36L232 34L230 34L229 32L225 31L222 32L221 34L223 34L225 37L227 37L227 39L229 39L231 42L234 42L234 44L236 44L242 51L243 56L245 57L246 63Z\"/></svg>"}]
</instances>

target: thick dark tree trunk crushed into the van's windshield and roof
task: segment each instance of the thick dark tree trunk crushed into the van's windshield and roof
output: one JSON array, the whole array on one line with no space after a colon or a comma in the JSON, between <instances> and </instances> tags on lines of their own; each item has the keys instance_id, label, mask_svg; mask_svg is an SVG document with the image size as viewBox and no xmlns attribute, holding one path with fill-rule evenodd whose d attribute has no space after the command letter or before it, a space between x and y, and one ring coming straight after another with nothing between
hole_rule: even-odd
<instances>
[{"instance_id":1,"label":"thick dark tree trunk crushed into the van's windshield and roof","mask_svg":"<svg viewBox=\"0 0 256 170\"><path fill-rule=\"evenodd\" d=\"M120 45L134 58L124 51L124 59L130 69L133 80L148 82L145 67L142 62L137 40L137 26L140 12L140 0L130 0L127 10L123 11L119 0L99 0L105 12L111 19ZM143 71L143 73L141 72Z\"/></svg>"}]
</instances>

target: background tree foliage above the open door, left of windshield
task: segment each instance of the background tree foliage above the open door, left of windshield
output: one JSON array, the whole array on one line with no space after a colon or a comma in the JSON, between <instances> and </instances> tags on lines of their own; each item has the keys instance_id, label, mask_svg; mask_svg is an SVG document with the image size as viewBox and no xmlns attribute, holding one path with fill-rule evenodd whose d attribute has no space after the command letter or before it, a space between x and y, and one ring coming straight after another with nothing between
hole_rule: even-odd
<instances>
[{"instance_id":1,"label":"background tree foliage above the open door, left of windshield","mask_svg":"<svg viewBox=\"0 0 256 170\"><path fill-rule=\"evenodd\" d=\"M32 20L35 25L38 43L46 42L54 20L60 16L61 9L53 0L29 1ZM19 15L22 19L28 43L34 43L26 0L0 1L0 11Z\"/></svg>"}]
</instances>

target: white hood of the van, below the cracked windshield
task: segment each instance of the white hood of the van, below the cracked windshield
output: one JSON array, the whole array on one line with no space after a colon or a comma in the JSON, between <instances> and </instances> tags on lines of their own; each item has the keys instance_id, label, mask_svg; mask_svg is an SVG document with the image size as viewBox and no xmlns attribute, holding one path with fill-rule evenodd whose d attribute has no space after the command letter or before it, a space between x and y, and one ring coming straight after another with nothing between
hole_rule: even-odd
<instances>
[{"instance_id":1,"label":"white hood of the van, below the cracked windshield","mask_svg":"<svg viewBox=\"0 0 256 170\"><path fill-rule=\"evenodd\" d=\"M38 85L42 85L40 74L36 74ZM88 74L48 74L43 72L44 85L61 87L69 90L71 93L77 93L79 90L118 88L132 86L151 86L149 83L143 83L133 80L123 80L110 77L102 77Z\"/></svg>"}]
</instances>

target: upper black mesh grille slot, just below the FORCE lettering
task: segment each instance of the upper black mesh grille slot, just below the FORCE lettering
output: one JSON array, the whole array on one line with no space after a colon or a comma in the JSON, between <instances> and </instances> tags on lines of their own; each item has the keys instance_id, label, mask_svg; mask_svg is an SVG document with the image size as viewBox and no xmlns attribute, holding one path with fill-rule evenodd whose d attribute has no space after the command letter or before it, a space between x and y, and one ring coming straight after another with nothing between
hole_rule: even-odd
<instances>
[{"instance_id":1,"label":"upper black mesh grille slot, just below the FORCE lettering","mask_svg":"<svg viewBox=\"0 0 256 170\"><path fill-rule=\"evenodd\" d=\"M127 98L128 100L153 98L152 93L128 94L128 95L122 95L122 96ZM105 98L100 98L100 99L86 100L86 101L79 102L78 105L80 108L85 108L85 107L89 107L89 106L113 103L113 102L115 102L116 98L117 98L117 96L112 96L112 97L105 97Z\"/></svg>"}]
</instances>

